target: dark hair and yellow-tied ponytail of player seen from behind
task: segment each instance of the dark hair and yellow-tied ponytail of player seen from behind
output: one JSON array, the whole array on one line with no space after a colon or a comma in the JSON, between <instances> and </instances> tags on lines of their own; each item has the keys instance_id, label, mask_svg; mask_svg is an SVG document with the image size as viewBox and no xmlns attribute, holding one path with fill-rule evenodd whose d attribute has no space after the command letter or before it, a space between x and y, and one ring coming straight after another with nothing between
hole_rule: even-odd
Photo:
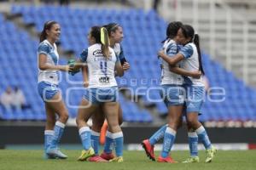
<instances>
[{"instance_id":1,"label":"dark hair and yellow-tied ponytail of player seen from behind","mask_svg":"<svg viewBox=\"0 0 256 170\"><path fill-rule=\"evenodd\" d=\"M90 28L90 36L95 38L96 43L102 44L102 54L108 58L110 52L109 52L109 37L108 37L107 29L101 26L92 26Z\"/></svg>"}]
</instances>

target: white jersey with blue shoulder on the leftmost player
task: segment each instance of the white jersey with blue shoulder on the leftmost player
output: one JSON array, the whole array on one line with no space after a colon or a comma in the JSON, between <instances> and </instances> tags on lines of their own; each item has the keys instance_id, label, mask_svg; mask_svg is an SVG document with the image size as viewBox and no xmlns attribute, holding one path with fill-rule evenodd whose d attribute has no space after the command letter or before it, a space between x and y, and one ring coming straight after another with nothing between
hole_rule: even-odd
<instances>
[{"instance_id":1,"label":"white jersey with blue shoulder on the leftmost player","mask_svg":"<svg viewBox=\"0 0 256 170\"><path fill-rule=\"evenodd\" d=\"M52 46L48 40L44 40L38 47L38 60L39 54L45 54L47 56L46 63L48 65L58 65L59 54L57 52L56 44ZM38 69L38 82L50 82L54 84L59 83L59 71L41 71Z\"/></svg>"}]
</instances>

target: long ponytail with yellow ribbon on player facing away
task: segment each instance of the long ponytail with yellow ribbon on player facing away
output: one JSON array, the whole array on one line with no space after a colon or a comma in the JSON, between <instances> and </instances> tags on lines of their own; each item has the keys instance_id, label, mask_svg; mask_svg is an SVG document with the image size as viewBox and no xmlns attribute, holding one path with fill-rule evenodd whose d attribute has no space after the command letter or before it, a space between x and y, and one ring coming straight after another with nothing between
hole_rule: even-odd
<instances>
[{"instance_id":1,"label":"long ponytail with yellow ribbon on player facing away","mask_svg":"<svg viewBox=\"0 0 256 170\"><path fill-rule=\"evenodd\" d=\"M109 37L108 37L108 30L105 27L101 28L101 43L102 43L102 54L105 57L109 57L110 52L109 52Z\"/></svg>"}]
</instances>

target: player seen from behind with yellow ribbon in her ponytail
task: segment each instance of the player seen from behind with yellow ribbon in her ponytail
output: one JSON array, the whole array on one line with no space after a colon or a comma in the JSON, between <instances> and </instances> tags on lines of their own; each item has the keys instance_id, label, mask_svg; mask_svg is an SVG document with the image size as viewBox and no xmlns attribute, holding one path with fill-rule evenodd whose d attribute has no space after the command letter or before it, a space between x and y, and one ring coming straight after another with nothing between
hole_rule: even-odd
<instances>
[{"instance_id":1,"label":"player seen from behind with yellow ribbon in her ponytail","mask_svg":"<svg viewBox=\"0 0 256 170\"><path fill-rule=\"evenodd\" d=\"M122 162L124 139L118 122L118 88L114 76L115 74L122 76L124 71L113 48L109 47L108 31L106 28L93 26L88 39L90 44L93 45L85 49L80 55L79 61L77 61L77 64L87 64L89 78L89 85L84 90L84 98L81 101L77 116L79 135L84 147L81 156L79 156L79 161L87 160L87 158L95 155L95 151L91 147L91 133L87 121L90 116L95 114L99 105L102 105L102 114L105 114L107 118L117 156L110 161ZM76 68L74 69L76 70Z\"/></svg>"}]
</instances>

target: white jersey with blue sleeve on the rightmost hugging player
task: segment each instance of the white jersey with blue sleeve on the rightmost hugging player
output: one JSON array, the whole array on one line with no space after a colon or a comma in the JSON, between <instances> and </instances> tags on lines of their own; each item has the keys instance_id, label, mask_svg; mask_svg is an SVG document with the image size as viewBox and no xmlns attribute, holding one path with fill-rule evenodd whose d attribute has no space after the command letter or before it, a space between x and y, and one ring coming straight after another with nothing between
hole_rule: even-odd
<instances>
[{"instance_id":1,"label":"white jersey with blue sleeve on the rightmost hugging player","mask_svg":"<svg viewBox=\"0 0 256 170\"><path fill-rule=\"evenodd\" d=\"M184 59L182 62L182 68L186 71L199 71L199 56L195 43L186 44L183 49L178 52L183 54ZM202 77L195 79L192 77L184 77L184 83L193 86L204 86Z\"/></svg>"}]
</instances>

